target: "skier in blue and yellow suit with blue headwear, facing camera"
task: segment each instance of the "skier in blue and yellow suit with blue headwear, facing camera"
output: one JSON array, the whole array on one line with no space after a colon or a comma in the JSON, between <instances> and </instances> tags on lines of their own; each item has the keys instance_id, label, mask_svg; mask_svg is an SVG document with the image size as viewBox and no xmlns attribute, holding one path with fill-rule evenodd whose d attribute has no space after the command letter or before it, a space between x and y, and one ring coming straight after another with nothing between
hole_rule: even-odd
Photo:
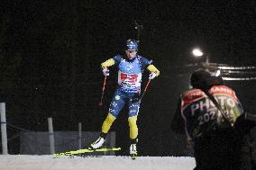
<instances>
[{"instance_id":1,"label":"skier in blue and yellow suit with blue headwear, facing camera","mask_svg":"<svg viewBox=\"0 0 256 170\"><path fill-rule=\"evenodd\" d=\"M129 127L130 127L130 155L137 156L136 144L138 142L137 117L141 104L142 71L147 68L151 74L150 79L160 75L160 71L154 67L152 61L137 54L138 43L136 40L127 40L124 55L116 55L101 64L103 74L109 76L108 67L118 67L118 86L110 103L109 112L102 125L100 136L90 148L101 148L105 142L107 132L110 130L114 120L123 109L124 103L129 105Z\"/></svg>"}]
</instances>

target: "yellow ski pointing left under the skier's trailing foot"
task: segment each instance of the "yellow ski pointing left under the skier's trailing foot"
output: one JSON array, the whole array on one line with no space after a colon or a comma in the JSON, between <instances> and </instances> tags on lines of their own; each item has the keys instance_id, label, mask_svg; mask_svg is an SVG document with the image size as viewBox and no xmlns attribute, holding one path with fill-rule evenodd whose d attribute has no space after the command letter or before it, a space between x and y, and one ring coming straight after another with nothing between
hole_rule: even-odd
<instances>
[{"instance_id":1,"label":"yellow ski pointing left under the skier's trailing foot","mask_svg":"<svg viewBox=\"0 0 256 170\"><path fill-rule=\"evenodd\" d=\"M53 154L54 157L63 157L63 156L72 156L72 155L78 155L78 154L85 154L85 153L93 153L93 152L107 152L107 151L118 151L121 150L121 148L83 148L79 150L71 150L67 152L62 153L56 153Z\"/></svg>"}]
</instances>

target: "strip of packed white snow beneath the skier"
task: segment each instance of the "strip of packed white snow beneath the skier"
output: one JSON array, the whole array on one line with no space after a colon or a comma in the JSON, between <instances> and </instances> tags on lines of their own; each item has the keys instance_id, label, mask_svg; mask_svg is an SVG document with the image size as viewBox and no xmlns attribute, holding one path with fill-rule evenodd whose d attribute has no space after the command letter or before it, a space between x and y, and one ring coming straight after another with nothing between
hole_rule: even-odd
<instances>
[{"instance_id":1,"label":"strip of packed white snow beneath the skier","mask_svg":"<svg viewBox=\"0 0 256 170\"><path fill-rule=\"evenodd\" d=\"M194 157L52 157L1 155L1 170L191 170Z\"/></svg>"}]
</instances>

